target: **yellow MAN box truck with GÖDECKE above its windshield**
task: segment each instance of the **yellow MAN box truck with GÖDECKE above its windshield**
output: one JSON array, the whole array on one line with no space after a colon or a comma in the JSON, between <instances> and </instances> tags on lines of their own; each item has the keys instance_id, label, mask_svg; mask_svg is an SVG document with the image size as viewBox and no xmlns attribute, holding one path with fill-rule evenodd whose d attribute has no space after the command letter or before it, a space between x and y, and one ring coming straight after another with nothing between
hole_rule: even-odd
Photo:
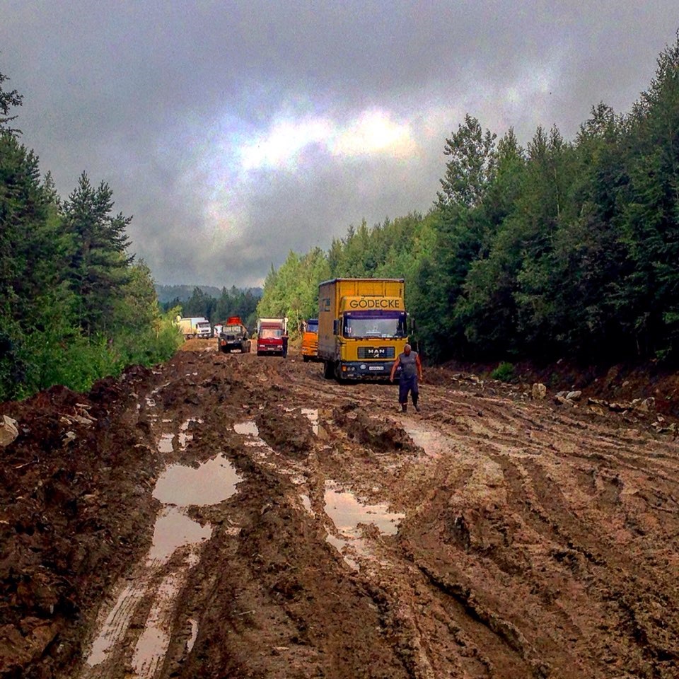
<instances>
[{"instance_id":1,"label":"yellow MAN box truck with G\u00d6DECKE above its windshield","mask_svg":"<svg viewBox=\"0 0 679 679\"><path fill-rule=\"evenodd\" d=\"M403 279L335 278L318 286L318 359L327 379L388 378L408 341Z\"/></svg>"}]
</instances>

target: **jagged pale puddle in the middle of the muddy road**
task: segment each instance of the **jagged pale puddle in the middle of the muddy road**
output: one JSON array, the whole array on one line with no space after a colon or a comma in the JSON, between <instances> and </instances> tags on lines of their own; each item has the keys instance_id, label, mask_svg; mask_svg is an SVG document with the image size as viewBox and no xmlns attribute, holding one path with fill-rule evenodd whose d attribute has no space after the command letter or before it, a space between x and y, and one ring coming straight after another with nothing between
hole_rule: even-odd
<instances>
[{"instance_id":1,"label":"jagged pale puddle in the middle of the muddy road","mask_svg":"<svg viewBox=\"0 0 679 679\"><path fill-rule=\"evenodd\" d=\"M333 482L325 482L325 513L330 516L340 536L326 536L327 542L337 548L344 561L354 570L359 565L352 552L368 555L369 549L359 524L372 524L381 533L395 535L405 514L390 512L386 504L362 504L353 493L342 492Z\"/></svg>"}]
</instances>

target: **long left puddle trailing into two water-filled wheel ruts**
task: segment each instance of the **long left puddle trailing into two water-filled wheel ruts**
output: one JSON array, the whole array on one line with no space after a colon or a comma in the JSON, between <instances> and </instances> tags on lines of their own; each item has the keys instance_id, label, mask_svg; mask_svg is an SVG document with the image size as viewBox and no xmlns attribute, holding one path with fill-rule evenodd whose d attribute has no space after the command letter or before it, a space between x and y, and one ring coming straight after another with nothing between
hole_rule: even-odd
<instances>
[{"instance_id":1,"label":"long left puddle trailing into two water-filled wheel ruts","mask_svg":"<svg viewBox=\"0 0 679 679\"><path fill-rule=\"evenodd\" d=\"M172 436L172 435L167 435ZM163 437L161 441L170 441ZM153 543L144 562L132 574L129 584L119 586L117 599L100 615L100 632L86 659L83 679L100 676L96 666L104 663L114 646L121 644L137 606L151 596L153 605L146 618L144 631L137 639L132 656L134 676L151 679L163 661L170 644L168 630L172 626L175 600L184 586L190 569L199 562L202 542L209 540L211 526L201 526L192 521L185 511L190 506L217 504L236 492L240 477L224 455L217 455L197 468L170 465L153 489L153 497L165 506L153 528ZM158 574L177 550L184 549L183 559L163 576L158 584ZM192 621L191 646L195 642L197 622Z\"/></svg>"}]
</instances>

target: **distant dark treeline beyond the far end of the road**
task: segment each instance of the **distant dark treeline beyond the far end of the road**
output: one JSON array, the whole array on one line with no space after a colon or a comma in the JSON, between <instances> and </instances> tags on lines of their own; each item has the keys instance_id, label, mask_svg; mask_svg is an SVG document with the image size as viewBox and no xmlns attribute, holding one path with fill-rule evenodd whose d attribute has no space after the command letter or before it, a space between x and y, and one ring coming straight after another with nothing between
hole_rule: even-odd
<instances>
[{"instance_id":1,"label":"distant dark treeline beyond the far end of the road","mask_svg":"<svg viewBox=\"0 0 679 679\"><path fill-rule=\"evenodd\" d=\"M229 316L240 316L248 328L254 328L260 297L259 289L243 290L236 286L230 290L222 288L219 297L214 297L196 286L187 300L176 297L161 304L161 307L166 311L177 308L182 316L204 316L212 325L225 321Z\"/></svg>"}]
</instances>

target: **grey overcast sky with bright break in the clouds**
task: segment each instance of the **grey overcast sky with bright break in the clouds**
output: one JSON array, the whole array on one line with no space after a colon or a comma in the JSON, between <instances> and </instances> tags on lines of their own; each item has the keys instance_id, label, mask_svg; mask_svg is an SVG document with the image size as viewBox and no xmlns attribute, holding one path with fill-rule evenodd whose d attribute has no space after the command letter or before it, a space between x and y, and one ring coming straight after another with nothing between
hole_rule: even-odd
<instances>
[{"instance_id":1,"label":"grey overcast sky with bright break in the clouds","mask_svg":"<svg viewBox=\"0 0 679 679\"><path fill-rule=\"evenodd\" d=\"M677 0L0 0L23 142L133 215L156 282L250 286L350 224L426 212L465 113L525 144L627 112Z\"/></svg>"}]
</instances>

